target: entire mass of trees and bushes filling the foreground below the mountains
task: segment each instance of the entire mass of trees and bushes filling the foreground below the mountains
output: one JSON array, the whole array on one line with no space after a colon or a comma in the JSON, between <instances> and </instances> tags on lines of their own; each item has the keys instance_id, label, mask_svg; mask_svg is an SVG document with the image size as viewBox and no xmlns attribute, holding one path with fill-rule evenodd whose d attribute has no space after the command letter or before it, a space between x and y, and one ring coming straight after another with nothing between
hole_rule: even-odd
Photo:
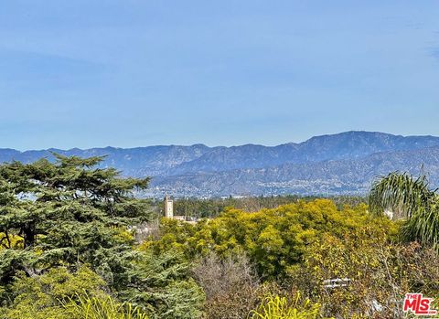
<instances>
[{"instance_id":1,"label":"entire mass of trees and bushes filling the foreground below the mountains","mask_svg":"<svg viewBox=\"0 0 439 319\"><path fill-rule=\"evenodd\" d=\"M405 293L439 293L423 180L375 184L374 214L355 198L226 198L177 204L215 218L157 223L134 197L148 179L101 161L0 165L0 318L400 318Z\"/></svg>"}]
</instances>

